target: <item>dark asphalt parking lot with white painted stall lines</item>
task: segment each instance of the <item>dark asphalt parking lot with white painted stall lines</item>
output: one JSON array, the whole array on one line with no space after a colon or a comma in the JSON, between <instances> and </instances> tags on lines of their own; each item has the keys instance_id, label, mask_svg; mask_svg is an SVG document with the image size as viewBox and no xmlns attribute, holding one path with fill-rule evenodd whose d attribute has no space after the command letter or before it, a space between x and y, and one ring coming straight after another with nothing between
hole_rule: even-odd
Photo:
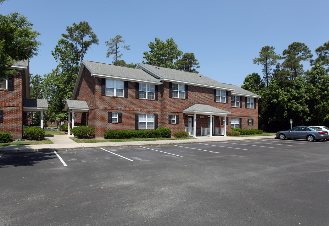
<instances>
[{"instance_id":1,"label":"dark asphalt parking lot with white painted stall lines","mask_svg":"<svg viewBox=\"0 0 329 226\"><path fill-rule=\"evenodd\" d=\"M0 225L329 225L328 150L270 139L5 153Z\"/></svg>"}]
</instances>

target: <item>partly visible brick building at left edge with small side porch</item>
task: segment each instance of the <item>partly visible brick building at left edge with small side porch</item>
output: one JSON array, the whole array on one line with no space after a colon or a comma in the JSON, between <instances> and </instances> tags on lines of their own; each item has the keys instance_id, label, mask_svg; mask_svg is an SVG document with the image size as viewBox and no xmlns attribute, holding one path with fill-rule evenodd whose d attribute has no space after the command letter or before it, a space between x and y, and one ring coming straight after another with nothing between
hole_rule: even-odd
<instances>
[{"instance_id":1,"label":"partly visible brick building at left edge with small side porch","mask_svg":"<svg viewBox=\"0 0 329 226\"><path fill-rule=\"evenodd\" d=\"M48 109L47 100L29 99L30 73L29 60L19 61L9 70L13 76L0 80L0 131L13 133L13 138L22 138L23 128L27 125L27 112L42 113Z\"/></svg>"}]
</instances>

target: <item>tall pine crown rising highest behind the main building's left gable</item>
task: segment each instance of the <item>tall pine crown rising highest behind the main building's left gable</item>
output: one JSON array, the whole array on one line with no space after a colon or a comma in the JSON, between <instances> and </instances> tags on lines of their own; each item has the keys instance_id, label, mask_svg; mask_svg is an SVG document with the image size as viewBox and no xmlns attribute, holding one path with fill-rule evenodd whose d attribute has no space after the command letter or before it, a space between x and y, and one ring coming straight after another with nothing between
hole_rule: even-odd
<instances>
[{"instance_id":1,"label":"tall pine crown rising highest behind the main building's left gable","mask_svg":"<svg viewBox=\"0 0 329 226\"><path fill-rule=\"evenodd\" d=\"M83 60L87 51L91 49L92 44L98 45L97 35L94 34L86 21L80 21L79 24L73 23L71 27L66 27L66 31L67 34L62 34L62 36L74 43L81 60Z\"/></svg>"}]
</instances>

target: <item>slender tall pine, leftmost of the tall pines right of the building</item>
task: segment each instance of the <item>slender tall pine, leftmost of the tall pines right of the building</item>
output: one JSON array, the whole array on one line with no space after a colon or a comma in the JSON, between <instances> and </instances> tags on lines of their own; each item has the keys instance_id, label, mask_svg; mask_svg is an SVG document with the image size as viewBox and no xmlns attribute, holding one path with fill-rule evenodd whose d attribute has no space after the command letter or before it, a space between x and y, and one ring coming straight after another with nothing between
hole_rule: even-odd
<instances>
[{"instance_id":1,"label":"slender tall pine, leftmost of the tall pines right of the building","mask_svg":"<svg viewBox=\"0 0 329 226\"><path fill-rule=\"evenodd\" d=\"M259 52L259 57L253 59L254 64L261 64L263 66L264 79L266 81L266 87L270 80L271 67L277 63L281 56L274 52L273 46L264 46Z\"/></svg>"}]
</instances>

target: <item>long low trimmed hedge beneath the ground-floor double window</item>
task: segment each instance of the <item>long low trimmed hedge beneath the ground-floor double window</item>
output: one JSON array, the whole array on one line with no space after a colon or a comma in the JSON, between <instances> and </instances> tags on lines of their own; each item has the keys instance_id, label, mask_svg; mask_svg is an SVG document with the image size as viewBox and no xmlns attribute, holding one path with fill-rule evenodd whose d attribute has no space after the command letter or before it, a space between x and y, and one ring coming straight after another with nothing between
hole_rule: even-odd
<instances>
[{"instance_id":1,"label":"long low trimmed hedge beneath the ground-floor double window","mask_svg":"<svg viewBox=\"0 0 329 226\"><path fill-rule=\"evenodd\" d=\"M105 139L130 138L160 138L159 130L108 130L104 132Z\"/></svg>"}]
</instances>

